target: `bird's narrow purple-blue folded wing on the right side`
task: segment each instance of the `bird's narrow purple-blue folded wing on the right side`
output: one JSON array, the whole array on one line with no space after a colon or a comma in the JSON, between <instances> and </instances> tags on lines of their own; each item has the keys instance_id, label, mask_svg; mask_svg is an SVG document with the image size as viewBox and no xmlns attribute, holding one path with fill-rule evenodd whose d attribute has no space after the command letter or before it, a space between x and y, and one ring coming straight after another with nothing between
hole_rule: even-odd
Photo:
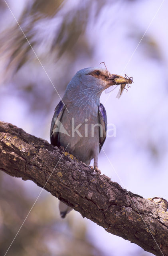
<instances>
[{"instance_id":1,"label":"bird's narrow purple-blue folded wing on the right side","mask_svg":"<svg viewBox=\"0 0 168 256\"><path fill-rule=\"evenodd\" d=\"M107 115L106 110L103 104L99 105L99 124L103 127L103 134L101 134L101 128L100 128L100 134L99 134L99 143L100 143L100 150L103 146L105 139L106 139L106 132L107 132Z\"/></svg>"}]
</instances>

